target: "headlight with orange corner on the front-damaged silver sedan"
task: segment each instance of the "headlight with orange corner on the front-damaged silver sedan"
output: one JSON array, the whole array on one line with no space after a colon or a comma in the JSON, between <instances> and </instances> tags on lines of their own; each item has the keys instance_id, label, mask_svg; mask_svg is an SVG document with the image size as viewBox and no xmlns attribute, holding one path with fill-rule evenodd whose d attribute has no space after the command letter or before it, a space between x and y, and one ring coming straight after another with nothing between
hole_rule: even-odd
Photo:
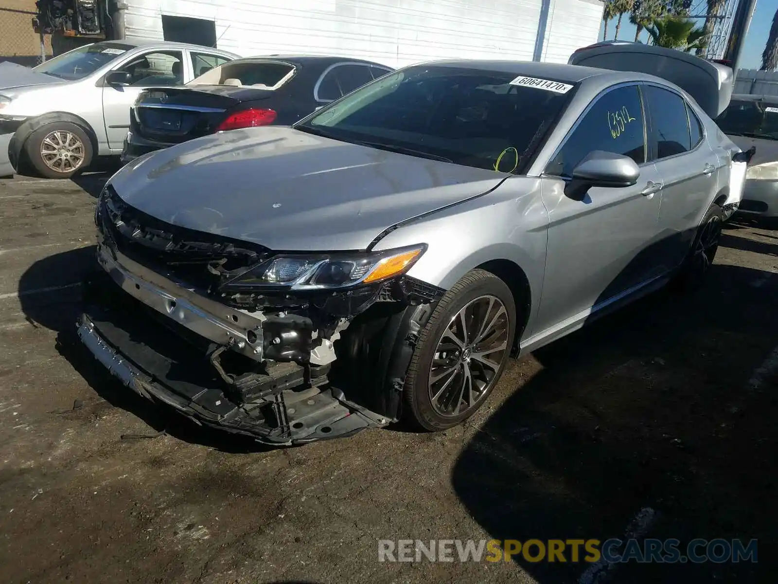
<instances>
[{"instance_id":1,"label":"headlight with orange corner on the front-damaged silver sedan","mask_svg":"<svg viewBox=\"0 0 778 584\"><path fill-rule=\"evenodd\" d=\"M321 290L388 280L411 269L426 245L373 253L276 255L222 285L223 291Z\"/></svg>"}]
</instances>

